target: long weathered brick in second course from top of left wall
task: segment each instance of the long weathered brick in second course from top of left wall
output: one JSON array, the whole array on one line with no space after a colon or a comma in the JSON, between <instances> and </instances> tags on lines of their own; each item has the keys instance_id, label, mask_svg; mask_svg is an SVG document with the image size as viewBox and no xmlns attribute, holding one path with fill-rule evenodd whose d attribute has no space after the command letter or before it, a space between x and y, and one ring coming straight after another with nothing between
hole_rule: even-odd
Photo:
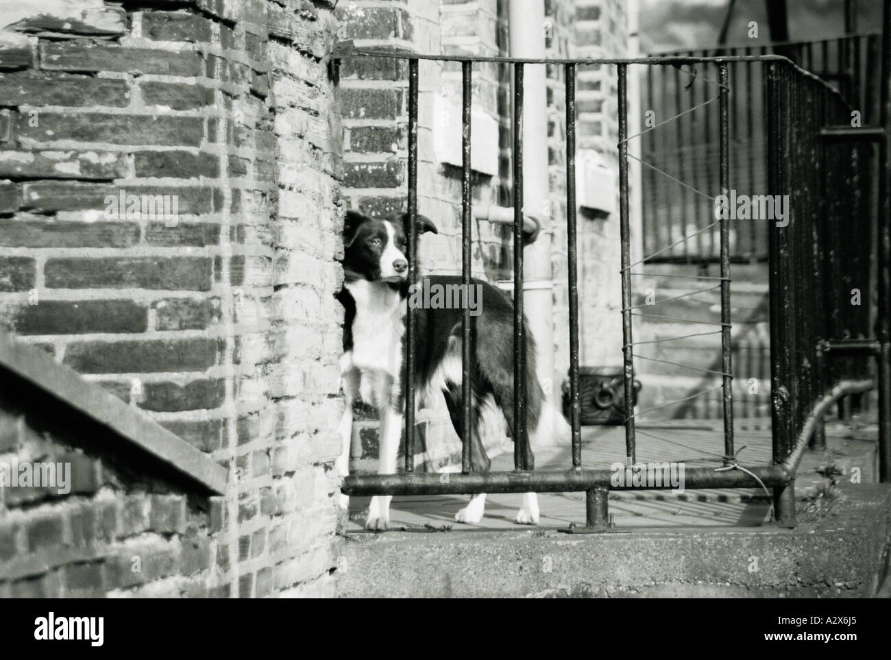
<instances>
[{"instance_id":1,"label":"long weathered brick in second course from top of left wall","mask_svg":"<svg viewBox=\"0 0 891 660\"><path fill-rule=\"evenodd\" d=\"M61 71L123 71L168 76L201 74L199 53L130 48L83 39L42 41L40 66Z\"/></svg>"}]
</instances>

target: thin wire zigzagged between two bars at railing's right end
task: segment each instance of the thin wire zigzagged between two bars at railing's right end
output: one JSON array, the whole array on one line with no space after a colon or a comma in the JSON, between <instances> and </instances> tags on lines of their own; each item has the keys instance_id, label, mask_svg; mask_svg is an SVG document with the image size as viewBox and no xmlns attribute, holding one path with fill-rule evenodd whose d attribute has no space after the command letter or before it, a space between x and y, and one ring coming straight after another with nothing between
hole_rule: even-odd
<instances>
[{"instance_id":1,"label":"thin wire zigzagged between two bars at railing's right end","mask_svg":"<svg viewBox=\"0 0 891 660\"><path fill-rule=\"evenodd\" d=\"M710 78L708 78L708 77L702 76L702 75L699 74L699 72L696 71L696 69L693 69L693 70L687 70L687 69L683 69L683 67L681 67L681 66L677 66L676 68L677 68L678 70L680 70L682 73L687 74L688 76L693 77L693 80L691 80L690 85L687 86L687 87L685 87L685 89L689 89L690 86L692 86L693 83L696 82L696 78L701 78L704 82L711 83L711 84L713 84L713 85L715 85L715 86L718 86L718 87L720 87L720 88L723 88L724 90L726 90L726 91L728 92L728 94L730 94L731 91L732 91L731 88L730 88L730 86L725 86L725 85L723 85L723 84L722 84L720 81L718 81L718 80L712 80L712 79L710 79ZM679 112L678 114L674 115L673 117L669 117L669 118L667 118L667 119L664 119L663 121L660 121L660 122L659 122L658 124L656 124L655 126L650 126L649 128L646 128L646 129L642 130L640 133L636 133L636 134L634 134L634 135L629 135L629 136L626 137L624 140L620 140L617 146L618 146L618 147L621 147L623 144L628 143L630 140L632 140L632 139L634 139L634 138L636 138L636 137L641 137L641 136L644 135L644 134L648 134L648 133L650 133L650 131L654 131L654 130L656 130L659 126L665 126L666 124L669 124L669 123L673 122L673 121L674 121L675 119L677 119L677 118L683 117L684 115L690 114L691 112L694 112L695 110L699 110L700 108L704 108L704 107L706 107L706 106L707 106L708 104L710 104L710 103L713 103L713 102L715 102L715 101L718 101L720 98L721 98L720 95L715 96L715 97L713 97L713 98L711 98L711 99L708 99L708 100L705 101L705 102L701 102L701 103L699 103L698 105L693 106L692 108L688 108L687 110L683 110L682 112ZM641 163L642 165L644 165L644 166L646 166L646 167L650 167L650 169L655 170L655 171L658 172L660 175L666 176L668 179L674 181L674 183L678 183L679 185L682 185L684 188L687 188L688 190L693 191L693 192L695 192L696 194L698 194L698 195L700 195L700 196L702 196L702 197L705 197L707 200L711 200L712 202L716 202L716 201L717 201L716 198L715 198L714 196L709 195L707 192L700 191L699 189L694 188L693 186L691 186L691 185L688 184L688 183L684 183L683 181L681 181L680 179L674 177L673 175L668 174L665 170L660 169L659 167L656 167L655 165L652 165L652 164L646 162L645 160L639 159L639 158L637 158L636 156L634 156L633 154L627 153L627 151L625 152L625 155L626 155L628 158L634 159L634 160L636 160L637 162ZM625 272L628 272L628 274L631 274L631 275L644 276L644 277L646 277L646 276L650 276L650 273L632 273L632 272L631 272L631 269L634 268L635 266L645 264L645 263L646 263L647 261L649 261L652 257L657 257L658 255L662 254L663 252L666 252L666 251L668 251L668 250L670 250L670 249L673 249L673 248L675 248L676 246L681 245L681 244L685 243L686 241L691 240L692 238L695 238L696 236L699 236L699 234L701 234L701 233L708 232L709 230L713 229L715 226L717 226L717 225L719 225L719 224L721 224L721 221L720 221L720 220L715 220L715 222L710 223L710 224L707 224L706 226L700 228L700 229L697 230L696 232L692 232L691 234L688 234L688 235L684 236L682 239L674 241L674 243L672 243L671 245L668 245L668 246L666 246L665 248L662 248L662 249L658 249L656 252L653 252L653 253L651 253L650 255L647 255L646 257L642 257L640 260L634 262L633 264L629 264L629 265L625 266L624 268L621 268L621 269L619 270L619 273L625 274ZM659 276L661 277L661 275L659 275ZM690 280L712 280L712 281L718 281L719 283L716 284L714 287L711 287L711 288L709 288L709 289L700 289L700 290L696 290L696 291L690 291L690 292L688 292L688 293L683 293L683 294L681 294L681 295L679 295L679 296L674 296L674 297L666 298L666 299L664 299L664 300L659 300L658 303L653 303L653 304L651 304L651 305L643 304L643 305L634 305L634 306L629 306L629 307L623 307L623 308L622 308L622 313L624 314L625 312L633 312L635 309L641 309L642 307L655 306L655 305L658 305L658 304L660 304L660 303L667 303L667 302L670 302L670 301L673 301L673 300L679 300L679 299L684 298L684 297L696 296L696 295L698 295L698 294L700 294L700 293L708 293L708 292L710 292L710 291L714 291L714 290L716 290L716 289L720 289L720 288L721 288L721 285L723 284L724 281L730 281L730 278L729 278L729 277L714 277L714 276L709 277L709 276L703 276L703 275L666 275L666 277L675 277L675 278L683 278L683 279L690 279ZM680 318L673 317L673 316L666 316L666 315L659 315L659 314L632 314L632 316L661 318L661 319L665 319L665 320L679 321L679 322L691 322L689 319L680 319ZM699 321L694 321L694 322L699 323ZM686 339L686 338L691 338L691 337L701 337L701 336L705 336L705 335L721 334L721 333L723 332L723 328L725 328L725 327L732 327L732 324L731 324L731 323L723 323L723 322L702 322L702 323L707 323L707 324L709 324L709 325L718 325L718 326L720 326L720 327L722 328L722 330L715 330L715 331L712 331L712 332L697 332L697 333L692 333L692 334L689 334L689 335L682 335L682 336L679 336L679 337L666 337L666 338L652 339L652 340L647 340L647 341L635 341L635 342L631 342L630 344L625 344L625 345L623 345L623 346L622 346L622 350L624 351L626 348L629 348L629 347L632 347L632 348L633 348L634 346L639 346L639 345L643 345L643 344L659 344L659 343L666 342L666 341L677 341L677 340L679 340L679 339ZM689 369L689 370L691 370L691 371L699 371L699 372L701 372L701 373L713 374L713 375L716 375L716 376L722 376L722 377L723 377L723 376L729 376L730 378L732 378L732 374L724 373L723 371L714 371L714 370L709 370L709 369L699 369L699 368L697 368L697 367L691 367L690 365L687 365L687 364L675 363L675 362L671 362L670 360L660 360L660 359L658 359L658 358L648 357L648 356L646 356L646 355L639 355L639 354L635 354L635 353L632 354L632 357L633 357L633 358L638 358L638 359L640 359L640 360L647 360L647 361L649 361L649 362L669 364L669 365L672 365L672 366L675 366L675 367L680 367L680 368L682 368L682 369ZM685 401L690 401L691 399L695 399L695 398L697 398L698 396L706 395L706 394L708 394L708 393L710 393L710 392L715 392L715 390L718 390L718 389L721 389L721 388L722 388L722 386L710 387L710 388L708 388L708 389L702 390L701 392L697 392L697 393L695 393L695 394L693 394L693 395L685 396L685 397L683 397L682 399L676 399L676 400L671 401L671 402L668 402L668 403L663 403L662 405L658 405L658 406L655 406L655 407L652 407L652 408L648 408L647 410L644 410L644 411L635 412L635 413L634 413L633 415L631 415L630 417L626 417L626 418L625 418L625 423L627 423L627 422L628 422L629 420L631 420L632 418L637 417L638 415L642 415L642 414L645 413L645 412L650 412L650 411L660 410L660 409L662 409L662 408L668 408L668 407L670 407L670 406L676 405L677 403L683 403L683 402L685 402ZM740 450L740 451L741 451L741 450ZM757 478L757 477L756 477L756 478Z\"/></svg>"}]
</instances>

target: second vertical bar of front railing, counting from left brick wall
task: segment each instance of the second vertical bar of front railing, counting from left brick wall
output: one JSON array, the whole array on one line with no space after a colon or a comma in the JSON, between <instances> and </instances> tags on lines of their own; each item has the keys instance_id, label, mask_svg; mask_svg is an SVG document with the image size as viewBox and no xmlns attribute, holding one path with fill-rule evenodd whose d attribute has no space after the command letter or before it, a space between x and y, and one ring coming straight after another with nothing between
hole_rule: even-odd
<instances>
[{"instance_id":1,"label":"second vertical bar of front railing, counting from left brick wall","mask_svg":"<svg viewBox=\"0 0 891 660\"><path fill-rule=\"evenodd\" d=\"M473 91L470 86L470 77L472 76L473 62L464 61L461 65L462 75L462 161L461 161L461 254L462 254L462 283L464 285L465 298L464 306L461 313L461 357L462 357L462 380L461 380L461 396L462 396L462 450L461 450L461 467L464 474L470 473L470 434L473 433L473 420L471 418L471 399L473 396L472 380L471 380L471 359L470 359L470 305L468 304L470 297L470 271L471 264L470 249L472 247L471 232L473 229L473 218L471 202L473 197L473 187L470 179L470 105L473 102Z\"/></svg>"}]
</instances>

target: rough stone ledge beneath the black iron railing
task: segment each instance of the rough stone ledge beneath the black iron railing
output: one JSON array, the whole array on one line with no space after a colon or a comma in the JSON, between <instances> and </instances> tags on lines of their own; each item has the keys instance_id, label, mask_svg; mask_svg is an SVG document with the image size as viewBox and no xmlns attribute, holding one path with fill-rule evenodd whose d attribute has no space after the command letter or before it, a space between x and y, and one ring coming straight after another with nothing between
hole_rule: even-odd
<instances>
[{"instance_id":1,"label":"rough stone ledge beneath the black iron railing","mask_svg":"<svg viewBox=\"0 0 891 660\"><path fill-rule=\"evenodd\" d=\"M847 484L838 493L830 516L793 530L347 534L338 594L870 598L887 573L891 488Z\"/></svg>"}]
</instances>

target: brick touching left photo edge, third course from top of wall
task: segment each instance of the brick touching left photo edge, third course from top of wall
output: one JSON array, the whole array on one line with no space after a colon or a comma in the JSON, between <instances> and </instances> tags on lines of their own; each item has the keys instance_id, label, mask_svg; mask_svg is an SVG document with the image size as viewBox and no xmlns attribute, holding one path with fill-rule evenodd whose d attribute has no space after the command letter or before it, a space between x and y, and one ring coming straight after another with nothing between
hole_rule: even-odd
<instances>
[{"instance_id":1,"label":"brick touching left photo edge, third course from top of wall","mask_svg":"<svg viewBox=\"0 0 891 660\"><path fill-rule=\"evenodd\" d=\"M0 53L3 53L0 50ZM68 73L28 71L0 74L0 105L107 105L126 108L130 88L124 80ZM37 123L41 121L37 114Z\"/></svg>"}]
</instances>

